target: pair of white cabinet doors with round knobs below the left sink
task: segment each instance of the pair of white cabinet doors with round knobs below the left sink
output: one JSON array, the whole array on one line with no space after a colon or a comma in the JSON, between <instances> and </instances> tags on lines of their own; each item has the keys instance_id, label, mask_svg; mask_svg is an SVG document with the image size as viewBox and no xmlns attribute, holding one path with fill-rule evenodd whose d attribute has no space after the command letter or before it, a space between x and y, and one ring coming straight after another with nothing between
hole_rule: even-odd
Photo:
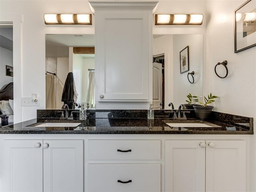
<instances>
[{"instance_id":1,"label":"pair of white cabinet doors with round knobs below the left sink","mask_svg":"<svg viewBox=\"0 0 256 192\"><path fill-rule=\"evenodd\" d=\"M1 192L83 192L83 140L2 140Z\"/></svg>"}]
</instances>

